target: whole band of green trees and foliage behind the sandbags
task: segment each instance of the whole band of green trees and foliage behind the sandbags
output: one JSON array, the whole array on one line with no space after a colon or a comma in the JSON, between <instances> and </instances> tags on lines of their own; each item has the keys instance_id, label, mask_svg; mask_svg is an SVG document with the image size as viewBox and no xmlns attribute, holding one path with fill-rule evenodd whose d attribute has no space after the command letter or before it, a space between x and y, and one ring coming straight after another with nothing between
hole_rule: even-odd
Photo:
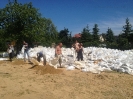
<instances>
[{"instance_id":1,"label":"whole band of green trees and foliage behind the sandbags","mask_svg":"<svg viewBox=\"0 0 133 99\"><path fill-rule=\"evenodd\" d=\"M83 43L84 47L96 46L117 48L127 50L133 48L133 30L129 19L123 26L123 33L114 36L111 28L106 34L102 34L105 42L99 41L99 28L94 24L92 34L89 26L83 28L81 38L72 38L68 29L64 28L59 33L50 19L42 17L39 10L33 7L32 3L21 4L17 0L9 2L5 8L0 9L0 50L6 50L7 41L15 41L16 49L22 48L22 41L25 40L33 47L34 43L51 46L52 43L62 42L63 46L71 47L77 40Z\"/></svg>"}]
</instances>

